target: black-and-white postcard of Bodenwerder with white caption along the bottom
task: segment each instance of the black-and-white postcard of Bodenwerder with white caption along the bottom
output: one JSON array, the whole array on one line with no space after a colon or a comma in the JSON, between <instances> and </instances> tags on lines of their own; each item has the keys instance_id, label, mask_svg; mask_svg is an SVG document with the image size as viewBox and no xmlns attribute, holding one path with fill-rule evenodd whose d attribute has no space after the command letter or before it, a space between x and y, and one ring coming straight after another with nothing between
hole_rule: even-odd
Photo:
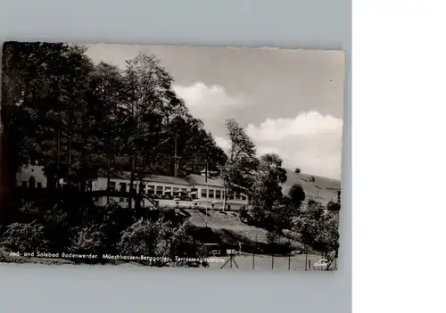
<instances>
[{"instance_id":1,"label":"black-and-white postcard of Bodenwerder with white caption along the bottom","mask_svg":"<svg viewBox=\"0 0 446 313\"><path fill-rule=\"evenodd\" d=\"M343 51L6 42L0 262L335 270Z\"/></svg>"}]
</instances>

